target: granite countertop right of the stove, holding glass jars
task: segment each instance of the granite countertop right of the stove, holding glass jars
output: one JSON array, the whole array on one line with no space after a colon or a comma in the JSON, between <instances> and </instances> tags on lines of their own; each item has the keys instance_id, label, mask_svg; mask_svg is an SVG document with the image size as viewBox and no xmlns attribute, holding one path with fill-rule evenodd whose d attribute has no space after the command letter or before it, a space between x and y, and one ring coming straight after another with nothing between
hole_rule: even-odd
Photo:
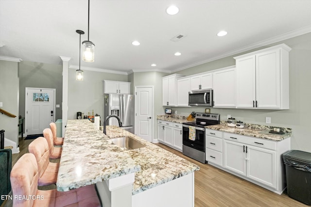
<instances>
[{"instance_id":1,"label":"granite countertop right of the stove, holding glass jars","mask_svg":"<svg viewBox=\"0 0 311 207\"><path fill-rule=\"evenodd\" d=\"M206 128L272 141L282 141L292 136L291 128L272 127L264 125L245 124L244 128L237 128L237 127L228 127L225 122L222 122L219 125L211 125L207 126ZM283 131L285 133L284 134L269 133L269 131L273 130L273 128L279 128L280 131Z\"/></svg>"}]
</instances>

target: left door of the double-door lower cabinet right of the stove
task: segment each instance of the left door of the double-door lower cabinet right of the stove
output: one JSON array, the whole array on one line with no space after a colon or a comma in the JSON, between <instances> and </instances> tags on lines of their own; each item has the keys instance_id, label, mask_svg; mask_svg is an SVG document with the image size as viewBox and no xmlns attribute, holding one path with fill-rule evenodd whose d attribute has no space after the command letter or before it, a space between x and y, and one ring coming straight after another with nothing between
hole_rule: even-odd
<instances>
[{"instance_id":1,"label":"left door of the double-door lower cabinet right of the stove","mask_svg":"<svg viewBox=\"0 0 311 207\"><path fill-rule=\"evenodd\" d=\"M246 175L245 145L224 140L224 167L240 175Z\"/></svg>"}]
</instances>

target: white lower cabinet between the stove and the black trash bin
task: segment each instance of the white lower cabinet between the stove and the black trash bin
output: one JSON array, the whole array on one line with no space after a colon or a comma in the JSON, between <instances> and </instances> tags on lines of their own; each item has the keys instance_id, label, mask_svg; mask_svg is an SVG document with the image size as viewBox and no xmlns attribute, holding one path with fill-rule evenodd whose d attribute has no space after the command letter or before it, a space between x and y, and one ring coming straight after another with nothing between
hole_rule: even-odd
<instances>
[{"instance_id":1,"label":"white lower cabinet between the stove and the black trash bin","mask_svg":"<svg viewBox=\"0 0 311 207\"><path fill-rule=\"evenodd\" d=\"M286 187L282 154L290 149L291 138L272 141L206 130L208 164L278 194Z\"/></svg>"}]
</instances>

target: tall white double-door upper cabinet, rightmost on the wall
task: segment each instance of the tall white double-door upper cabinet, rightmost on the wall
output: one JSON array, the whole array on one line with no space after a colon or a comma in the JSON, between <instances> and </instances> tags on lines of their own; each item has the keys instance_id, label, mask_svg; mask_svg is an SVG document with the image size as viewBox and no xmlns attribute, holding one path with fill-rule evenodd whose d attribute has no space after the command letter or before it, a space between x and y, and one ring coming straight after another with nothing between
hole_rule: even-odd
<instances>
[{"instance_id":1,"label":"tall white double-door upper cabinet, rightmost on the wall","mask_svg":"<svg viewBox=\"0 0 311 207\"><path fill-rule=\"evenodd\" d=\"M235 57L237 108L289 109L290 50L281 44Z\"/></svg>"}]
</instances>

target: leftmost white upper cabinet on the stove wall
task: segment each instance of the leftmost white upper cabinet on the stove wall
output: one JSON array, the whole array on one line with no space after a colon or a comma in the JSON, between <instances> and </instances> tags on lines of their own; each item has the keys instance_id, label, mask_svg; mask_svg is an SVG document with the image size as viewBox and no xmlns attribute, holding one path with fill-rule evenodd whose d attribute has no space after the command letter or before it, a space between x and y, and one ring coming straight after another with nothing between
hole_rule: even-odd
<instances>
[{"instance_id":1,"label":"leftmost white upper cabinet on the stove wall","mask_svg":"<svg viewBox=\"0 0 311 207\"><path fill-rule=\"evenodd\" d=\"M177 78L179 74L173 74L162 78L162 105L177 106Z\"/></svg>"}]
</instances>

